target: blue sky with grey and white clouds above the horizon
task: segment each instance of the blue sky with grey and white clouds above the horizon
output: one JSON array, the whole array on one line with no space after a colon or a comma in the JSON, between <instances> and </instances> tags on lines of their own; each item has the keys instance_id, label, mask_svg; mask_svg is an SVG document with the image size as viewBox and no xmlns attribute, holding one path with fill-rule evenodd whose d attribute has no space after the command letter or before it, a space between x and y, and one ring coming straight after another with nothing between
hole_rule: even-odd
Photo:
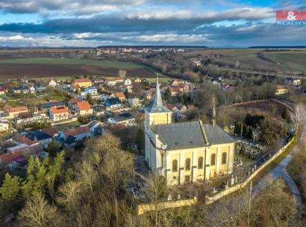
<instances>
[{"instance_id":1,"label":"blue sky with grey and white clouds above the horizon","mask_svg":"<svg viewBox=\"0 0 306 227\"><path fill-rule=\"evenodd\" d=\"M0 46L306 46L306 0L0 0Z\"/></svg>"}]
</instances>

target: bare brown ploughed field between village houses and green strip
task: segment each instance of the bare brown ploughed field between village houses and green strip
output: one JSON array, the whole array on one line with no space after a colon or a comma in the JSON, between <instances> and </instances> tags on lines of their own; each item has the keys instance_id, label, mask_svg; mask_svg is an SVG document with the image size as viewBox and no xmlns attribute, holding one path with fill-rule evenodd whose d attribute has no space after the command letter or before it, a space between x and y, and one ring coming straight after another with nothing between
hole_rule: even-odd
<instances>
[{"instance_id":1,"label":"bare brown ploughed field between village houses and green strip","mask_svg":"<svg viewBox=\"0 0 306 227\"><path fill-rule=\"evenodd\" d=\"M69 77L73 75L103 75L117 77L118 68L86 65L56 64L0 64L0 79L18 79L22 77ZM146 68L126 69L127 77L155 77Z\"/></svg>"}]
</instances>

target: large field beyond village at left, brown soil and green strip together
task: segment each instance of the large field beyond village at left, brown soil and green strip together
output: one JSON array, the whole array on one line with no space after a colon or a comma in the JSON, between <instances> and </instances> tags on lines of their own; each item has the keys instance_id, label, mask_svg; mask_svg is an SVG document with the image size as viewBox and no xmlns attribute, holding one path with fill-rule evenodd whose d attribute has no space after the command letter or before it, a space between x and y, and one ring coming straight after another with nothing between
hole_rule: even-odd
<instances>
[{"instance_id":1,"label":"large field beyond village at left, brown soil and green strip together","mask_svg":"<svg viewBox=\"0 0 306 227\"><path fill-rule=\"evenodd\" d=\"M137 63L29 58L1 60L0 79L73 77L75 75L117 77L119 69L126 70L126 77L151 78L155 77L156 73L155 70Z\"/></svg>"}]
</instances>

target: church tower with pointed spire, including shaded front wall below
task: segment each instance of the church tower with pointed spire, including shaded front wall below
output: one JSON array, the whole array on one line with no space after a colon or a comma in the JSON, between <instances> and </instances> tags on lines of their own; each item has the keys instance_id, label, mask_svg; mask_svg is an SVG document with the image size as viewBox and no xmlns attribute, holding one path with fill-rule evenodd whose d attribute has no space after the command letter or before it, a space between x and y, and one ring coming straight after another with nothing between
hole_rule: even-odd
<instances>
[{"instance_id":1,"label":"church tower with pointed spire, including shaded front wall below","mask_svg":"<svg viewBox=\"0 0 306 227\"><path fill-rule=\"evenodd\" d=\"M151 141L155 137L154 132L151 129L153 125L171 124L172 112L166 108L162 103L162 95L160 93L160 84L158 83L158 77L156 76L155 95L153 103L144 108L144 136L145 136L145 157L149 164L149 167L155 166L152 160L155 158L155 148Z\"/></svg>"}]
</instances>

